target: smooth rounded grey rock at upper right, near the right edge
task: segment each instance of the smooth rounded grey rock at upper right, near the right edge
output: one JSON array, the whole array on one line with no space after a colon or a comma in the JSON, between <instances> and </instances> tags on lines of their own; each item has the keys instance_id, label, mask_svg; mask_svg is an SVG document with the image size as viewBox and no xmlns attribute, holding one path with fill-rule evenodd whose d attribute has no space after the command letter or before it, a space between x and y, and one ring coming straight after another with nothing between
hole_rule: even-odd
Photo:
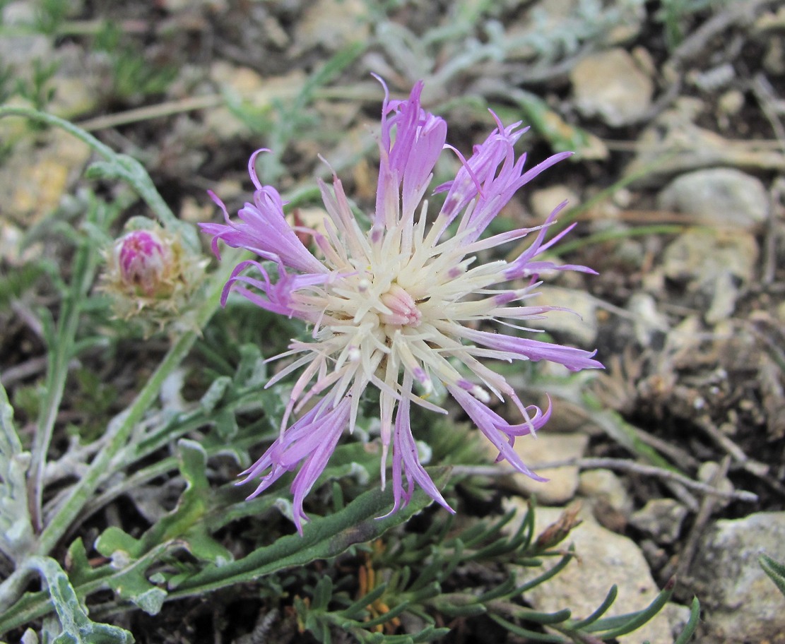
<instances>
[{"instance_id":1,"label":"smooth rounded grey rock at upper right, near the right edge","mask_svg":"<svg viewBox=\"0 0 785 644\"><path fill-rule=\"evenodd\" d=\"M700 224L754 230L768 217L769 196L755 176L733 168L710 168L671 181L659 193L657 205Z\"/></svg>"}]
</instances>

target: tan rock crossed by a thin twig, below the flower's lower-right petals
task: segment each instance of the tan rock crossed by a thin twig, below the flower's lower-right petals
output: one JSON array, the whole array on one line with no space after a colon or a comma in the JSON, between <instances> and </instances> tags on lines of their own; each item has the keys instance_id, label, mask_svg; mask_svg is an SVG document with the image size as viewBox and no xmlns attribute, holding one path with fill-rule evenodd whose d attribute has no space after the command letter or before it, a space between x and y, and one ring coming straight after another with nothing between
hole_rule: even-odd
<instances>
[{"instance_id":1,"label":"tan rock crossed by a thin twig, below the flower's lower-right petals","mask_svg":"<svg viewBox=\"0 0 785 644\"><path fill-rule=\"evenodd\" d=\"M488 443L492 457L498 453ZM540 432L536 438L527 436L515 442L515 451L536 473L547 482L535 481L528 476L513 474L506 478L506 485L526 497L536 496L539 503L546 505L564 504L575 497L578 489L579 470L574 465L561 468L537 469L538 463L553 463L557 460L582 458L589 446L585 434L553 434Z\"/></svg>"}]
</instances>

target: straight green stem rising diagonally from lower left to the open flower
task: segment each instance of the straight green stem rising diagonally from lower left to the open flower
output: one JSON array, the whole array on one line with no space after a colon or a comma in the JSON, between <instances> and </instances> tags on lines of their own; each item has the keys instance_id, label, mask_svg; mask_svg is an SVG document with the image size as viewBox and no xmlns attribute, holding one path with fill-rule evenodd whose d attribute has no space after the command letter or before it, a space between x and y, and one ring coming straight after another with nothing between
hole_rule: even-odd
<instances>
[{"instance_id":1,"label":"straight green stem rising diagonally from lower left to the open flower","mask_svg":"<svg viewBox=\"0 0 785 644\"><path fill-rule=\"evenodd\" d=\"M235 260L239 252L227 253L225 260L221 262L221 267L210 277L210 282L206 285L206 297L195 315L195 329L186 331L174 341L169 352L163 361L155 369L148 382L142 387L137 397L133 400L130 407L126 409L110 424L108 428L108 441L100 450L97 456L90 463L85 475L75 484L71 493L64 500L60 508L55 511L49 525L41 533L38 539L36 552L39 555L48 555L57 545L57 541L68 531L79 512L82 511L89 497L95 492L100 482L108 475L111 461L117 453L126 446L128 439L135 425L141 420L144 413L155 402L159 395L161 386L167 377L183 361L188 351L197 337L199 329L202 329L210 320L218 307L221 297L221 289L228 279L235 266Z\"/></svg>"}]
</instances>

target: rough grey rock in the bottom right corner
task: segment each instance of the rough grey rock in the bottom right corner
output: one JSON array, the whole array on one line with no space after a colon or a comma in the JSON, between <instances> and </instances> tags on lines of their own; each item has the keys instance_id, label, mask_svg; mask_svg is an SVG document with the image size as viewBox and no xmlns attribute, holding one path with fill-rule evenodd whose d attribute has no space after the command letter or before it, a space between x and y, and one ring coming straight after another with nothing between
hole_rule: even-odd
<instances>
[{"instance_id":1,"label":"rough grey rock in the bottom right corner","mask_svg":"<svg viewBox=\"0 0 785 644\"><path fill-rule=\"evenodd\" d=\"M785 598L758 563L785 560L785 512L720 520L703 535L690 575L699 584L705 642L783 642Z\"/></svg>"}]
</instances>

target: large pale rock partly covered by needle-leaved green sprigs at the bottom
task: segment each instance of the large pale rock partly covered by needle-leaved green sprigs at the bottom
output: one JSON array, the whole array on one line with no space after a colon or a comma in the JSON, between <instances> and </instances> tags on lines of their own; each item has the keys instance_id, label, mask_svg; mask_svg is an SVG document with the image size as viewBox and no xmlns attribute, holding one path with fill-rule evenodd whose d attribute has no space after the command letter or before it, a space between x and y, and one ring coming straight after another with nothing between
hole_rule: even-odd
<instances>
[{"instance_id":1,"label":"large pale rock partly covered by needle-leaved green sprigs at the bottom","mask_svg":"<svg viewBox=\"0 0 785 644\"><path fill-rule=\"evenodd\" d=\"M556 522L561 513L560 508L536 508L535 535ZM524 511L519 511L519 518L523 516ZM641 550L633 540L594 522L590 514L584 512L580 518L583 519L581 525L573 529L563 542L565 547L575 545L578 558L555 577L527 591L524 599L535 610L554 612L569 608L572 618L579 620L593 613L612 584L616 584L619 593L605 613L606 617L632 613L648 606L659 589ZM516 527L511 525L509 529ZM517 573L520 584L534 576L529 568L520 568ZM647 640L650 644L673 644L672 631L681 623L683 614L681 606L672 604L648 624L618 640L623 644L641 644Z\"/></svg>"}]
</instances>

